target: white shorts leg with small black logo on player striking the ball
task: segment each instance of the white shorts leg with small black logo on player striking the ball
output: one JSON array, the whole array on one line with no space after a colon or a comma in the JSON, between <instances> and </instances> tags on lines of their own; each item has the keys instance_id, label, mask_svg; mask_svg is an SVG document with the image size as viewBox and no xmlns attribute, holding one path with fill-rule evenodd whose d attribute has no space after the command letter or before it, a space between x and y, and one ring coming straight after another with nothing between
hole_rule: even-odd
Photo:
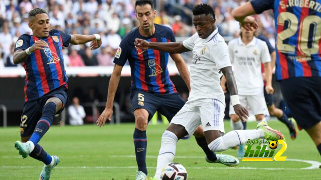
<instances>
[{"instance_id":1,"label":"white shorts leg with small black logo on player striking the ball","mask_svg":"<svg viewBox=\"0 0 321 180\"><path fill-rule=\"evenodd\" d=\"M200 116L204 132L208 130L224 130L224 109L225 105L217 99L202 99ZM205 133L204 133L205 134Z\"/></svg>"}]
</instances>

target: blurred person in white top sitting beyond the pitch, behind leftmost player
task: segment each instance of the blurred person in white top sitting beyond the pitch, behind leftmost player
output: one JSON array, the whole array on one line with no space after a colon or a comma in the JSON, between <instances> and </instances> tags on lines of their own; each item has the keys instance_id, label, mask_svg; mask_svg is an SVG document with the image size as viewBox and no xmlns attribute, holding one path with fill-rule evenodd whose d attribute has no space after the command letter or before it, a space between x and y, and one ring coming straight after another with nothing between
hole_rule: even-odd
<instances>
[{"instance_id":1,"label":"blurred person in white top sitting beyond the pitch, behind leftmost player","mask_svg":"<svg viewBox=\"0 0 321 180\"><path fill-rule=\"evenodd\" d=\"M84 124L83 118L86 116L84 107L79 104L79 98L74 97L72 104L68 107L69 123L70 125Z\"/></svg>"}]
</instances>

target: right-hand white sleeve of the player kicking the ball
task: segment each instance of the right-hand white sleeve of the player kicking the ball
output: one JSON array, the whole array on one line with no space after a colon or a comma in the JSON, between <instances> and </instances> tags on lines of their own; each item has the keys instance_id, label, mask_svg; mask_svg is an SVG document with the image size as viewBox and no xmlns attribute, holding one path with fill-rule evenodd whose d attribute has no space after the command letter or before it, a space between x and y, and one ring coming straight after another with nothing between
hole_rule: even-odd
<instances>
[{"instance_id":1,"label":"right-hand white sleeve of the player kicking the ball","mask_svg":"<svg viewBox=\"0 0 321 180\"><path fill-rule=\"evenodd\" d=\"M228 46L224 41L217 42L217 45L212 48L212 59L216 63L216 68L232 66L229 56Z\"/></svg>"}]
</instances>

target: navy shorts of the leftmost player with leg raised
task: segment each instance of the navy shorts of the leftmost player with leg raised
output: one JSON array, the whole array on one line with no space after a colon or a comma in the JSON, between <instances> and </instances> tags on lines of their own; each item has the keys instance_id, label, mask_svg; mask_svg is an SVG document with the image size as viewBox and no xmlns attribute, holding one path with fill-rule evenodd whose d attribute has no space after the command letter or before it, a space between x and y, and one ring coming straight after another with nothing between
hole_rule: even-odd
<instances>
[{"instance_id":1,"label":"navy shorts of the leftmost player with leg raised","mask_svg":"<svg viewBox=\"0 0 321 180\"><path fill-rule=\"evenodd\" d=\"M69 102L66 91L67 88L65 86L61 86L36 100L25 102L20 122L20 135L22 137L28 137L34 132L37 122L42 116L43 107L50 97L58 97L62 101L62 108L57 112L57 114L60 113Z\"/></svg>"}]
</instances>

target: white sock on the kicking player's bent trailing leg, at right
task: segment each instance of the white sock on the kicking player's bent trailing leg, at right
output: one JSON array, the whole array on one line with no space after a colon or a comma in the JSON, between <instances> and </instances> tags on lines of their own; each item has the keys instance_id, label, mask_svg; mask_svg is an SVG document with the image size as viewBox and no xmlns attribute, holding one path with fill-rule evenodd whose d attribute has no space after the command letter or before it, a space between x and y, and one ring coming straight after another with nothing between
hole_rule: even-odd
<instances>
[{"instance_id":1,"label":"white sock on the kicking player's bent trailing leg, at right","mask_svg":"<svg viewBox=\"0 0 321 180\"><path fill-rule=\"evenodd\" d=\"M225 135L216 138L208 144L212 151L223 151L236 145L245 143L248 139L258 139L264 137L264 131L262 129L251 130L232 130Z\"/></svg>"}]
</instances>

